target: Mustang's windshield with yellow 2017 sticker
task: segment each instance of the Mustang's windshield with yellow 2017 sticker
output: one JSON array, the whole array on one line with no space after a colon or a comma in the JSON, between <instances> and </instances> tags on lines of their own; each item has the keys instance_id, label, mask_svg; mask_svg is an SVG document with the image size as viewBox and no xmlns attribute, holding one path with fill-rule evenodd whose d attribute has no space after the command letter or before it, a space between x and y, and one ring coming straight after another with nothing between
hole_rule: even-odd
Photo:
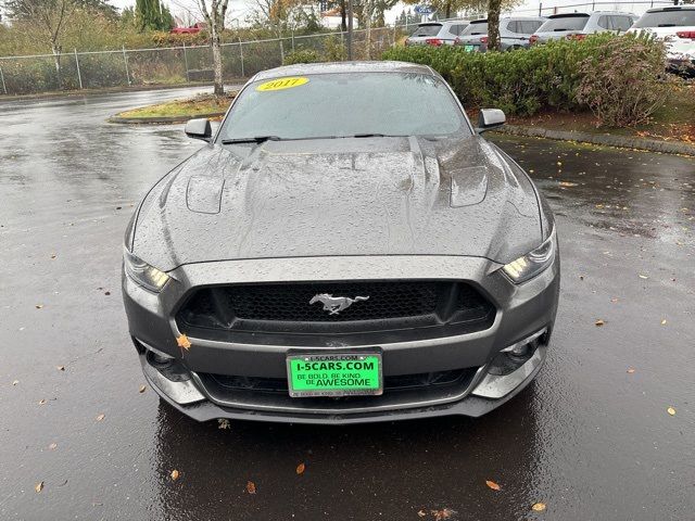
<instances>
[{"instance_id":1,"label":"Mustang's windshield with yellow 2017 sticker","mask_svg":"<svg viewBox=\"0 0 695 521\"><path fill-rule=\"evenodd\" d=\"M312 74L255 81L239 94L220 138L307 139L470 134L446 85L414 73Z\"/></svg>"}]
</instances>

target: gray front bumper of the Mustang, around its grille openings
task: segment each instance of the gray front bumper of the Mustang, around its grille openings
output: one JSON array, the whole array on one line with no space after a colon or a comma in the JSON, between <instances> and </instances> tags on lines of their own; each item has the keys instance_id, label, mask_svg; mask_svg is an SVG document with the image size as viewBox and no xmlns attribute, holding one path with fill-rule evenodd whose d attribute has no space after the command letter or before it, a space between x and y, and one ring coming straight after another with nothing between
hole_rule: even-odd
<instances>
[{"instance_id":1,"label":"gray front bumper of the Mustang, around its grille openings","mask_svg":"<svg viewBox=\"0 0 695 521\"><path fill-rule=\"evenodd\" d=\"M148 292L127 277L123 279L124 301L130 333L140 352L149 383L173 406L200 420L215 418L291 421L306 423L356 423L432 416L481 416L502 405L523 389L538 373L545 358L557 309L559 260L534 279L515 285L497 271L498 265L478 257L336 257L260 259L205 263L177 268L159 295ZM287 395L247 393L220 396L200 374L218 373L261 378L285 378L289 353L345 351L348 346L298 346L238 344L190 338L192 346L181 351L176 344L175 316L189 292L200 285L278 282L339 281L355 279L464 280L476 285L494 303L492 327L456 336L374 345L350 345L349 351L378 348L384 376L477 368L459 386L439 392L384 393L359 399L307 401ZM490 374L500 352L539 332L533 352L515 371ZM148 352L170 356L178 373L172 380L157 370ZM169 371L170 372L170 371Z\"/></svg>"}]
</instances>

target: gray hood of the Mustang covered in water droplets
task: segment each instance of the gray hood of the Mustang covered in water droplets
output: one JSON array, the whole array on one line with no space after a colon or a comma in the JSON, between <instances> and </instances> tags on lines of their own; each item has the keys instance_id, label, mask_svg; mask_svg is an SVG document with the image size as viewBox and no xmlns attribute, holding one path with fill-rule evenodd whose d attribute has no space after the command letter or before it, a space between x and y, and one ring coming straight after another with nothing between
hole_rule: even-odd
<instances>
[{"instance_id":1,"label":"gray hood of the Mustang covered in water droplets","mask_svg":"<svg viewBox=\"0 0 695 521\"><path fill-rule=\"evenodd\" d=\"M538 195L478 136L206 147L143 200L132 251L162 270L211 260L467 255L542 242Z\"/></svg>"}]
</instances>

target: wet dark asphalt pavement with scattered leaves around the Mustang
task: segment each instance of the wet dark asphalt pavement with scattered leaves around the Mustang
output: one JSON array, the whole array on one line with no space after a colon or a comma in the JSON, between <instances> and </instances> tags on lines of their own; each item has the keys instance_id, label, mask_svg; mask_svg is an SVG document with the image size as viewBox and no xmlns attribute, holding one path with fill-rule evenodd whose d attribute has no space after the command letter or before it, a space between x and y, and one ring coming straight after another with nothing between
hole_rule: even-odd
<instances>
[{"instance_id":1,"label":"wet dark asphalt pavement with scattered leaves around the Mustang","mask_svg":"<svg viewBox=\"0 0 695 521\"><path fill-rule=\"evenodd\" d=\"M139 392L121 301L132 206L200 143L105 118L182 92L0 102L0 519L695 519L695 160L492 138L556 212L563 291L486 417L220 430Z\"/></svg>"}]
</instances>

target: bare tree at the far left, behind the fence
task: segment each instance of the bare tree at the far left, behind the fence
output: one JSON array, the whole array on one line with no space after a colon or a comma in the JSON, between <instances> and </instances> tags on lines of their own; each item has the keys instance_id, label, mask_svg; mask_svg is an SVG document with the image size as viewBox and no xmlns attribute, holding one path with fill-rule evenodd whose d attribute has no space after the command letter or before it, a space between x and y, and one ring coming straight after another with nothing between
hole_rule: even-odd
<instances>
[{"instance_id":1,"label":"bare tree at the far left, behind the fence","mask_svg":"<svg viewBox=\"0 0 695 521\"><path fill-rule=\"evenodd\" d=\"M61 72L61 39L71 16L75 13L75 0L12 0L5 2L11 17L21 18L37 29L53 53L58 88L63 87Z\"/></svg>"}]
</instances>

